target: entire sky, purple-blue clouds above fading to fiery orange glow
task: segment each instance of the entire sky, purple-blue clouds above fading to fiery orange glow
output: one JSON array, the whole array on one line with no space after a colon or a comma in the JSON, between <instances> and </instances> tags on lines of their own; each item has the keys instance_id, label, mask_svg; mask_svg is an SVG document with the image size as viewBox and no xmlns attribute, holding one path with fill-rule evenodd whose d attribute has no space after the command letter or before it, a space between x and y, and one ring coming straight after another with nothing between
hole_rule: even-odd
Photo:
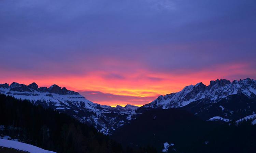
<instances>
[{"instance_id":1,"label":"entire sky, purple-blue clouds above fading to fiery orange glow","mask_svg":"<svg viewBox=\"0 0 256 153\"><path fill-rule=\"evenodd\" d=\"M141 106L256 79L255 0L1 0L0 83L57 84Z\"/></svg>"}]
</instances>

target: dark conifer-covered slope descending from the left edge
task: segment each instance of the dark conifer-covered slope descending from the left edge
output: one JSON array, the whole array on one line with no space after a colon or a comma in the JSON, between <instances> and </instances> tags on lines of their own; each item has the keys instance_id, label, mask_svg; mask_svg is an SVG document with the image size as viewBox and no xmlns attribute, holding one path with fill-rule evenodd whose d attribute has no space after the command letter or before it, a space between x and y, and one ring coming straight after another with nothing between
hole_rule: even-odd
<instances>
[{"instance_id":1,"label":"dark conifer-covered slope descending from the left edge","mask_svg":"<svg viewBox=\"0 0 256 153\"><path fill-rule=\"evenodd\" d=\"M58 153L155 153L153 147L122 147L92 127L52 109L0 94L2 134Z\"/></svg>"}]
</instances>

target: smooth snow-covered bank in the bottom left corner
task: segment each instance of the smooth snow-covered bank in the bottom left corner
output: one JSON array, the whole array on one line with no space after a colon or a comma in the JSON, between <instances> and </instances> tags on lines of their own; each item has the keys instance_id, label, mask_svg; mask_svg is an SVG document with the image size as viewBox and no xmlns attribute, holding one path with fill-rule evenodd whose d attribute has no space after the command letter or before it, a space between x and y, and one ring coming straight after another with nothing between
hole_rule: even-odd
<instances>
[{"instance_id":1,"label":"smooth snow-covered bank in the bottom left corner","mask_svg":"<svg viewBox=\"0 0 256 153\"><path fill-rule=\"evenodd\" d=\"M5 139L0 139L0 147L13 148L20 151L27 151L29 153L56 153L53 151L48 151L36 146L29 145L27 143Z\"/></svg>"}]
</instances>

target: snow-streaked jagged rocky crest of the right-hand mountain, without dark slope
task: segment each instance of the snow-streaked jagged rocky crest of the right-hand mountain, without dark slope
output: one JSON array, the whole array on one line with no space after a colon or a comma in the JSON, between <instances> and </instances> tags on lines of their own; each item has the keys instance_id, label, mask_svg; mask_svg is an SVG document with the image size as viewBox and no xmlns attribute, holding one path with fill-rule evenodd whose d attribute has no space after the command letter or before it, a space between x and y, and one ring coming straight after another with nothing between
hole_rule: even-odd
<instances>
[{"instance_id":1,"label":"snow-streaked jagged rocky crest of the right-hand mountain, without dark slope","mask_svg":"<svg viewBox=\"0 0 256 153\"><path fill-rule=\"evenodd\" d=\"M216 103L221 98L229 95L244 94L249 98L256 96L256 81L250 78L244 80L229 80L221 79L211 81L210 85L206 86L203 83L186 86L183 90L176 93L159 96L153 102L142 107L154 108L179 108L188 105L191 102L205 99L208 103Z\"/></svg>"}]
</instances>

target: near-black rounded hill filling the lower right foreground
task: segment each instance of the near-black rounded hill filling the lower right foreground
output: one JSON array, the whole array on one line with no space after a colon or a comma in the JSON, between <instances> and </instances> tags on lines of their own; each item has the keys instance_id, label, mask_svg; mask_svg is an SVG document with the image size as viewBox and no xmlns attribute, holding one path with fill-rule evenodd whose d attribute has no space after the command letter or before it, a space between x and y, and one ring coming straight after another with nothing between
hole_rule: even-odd
<instances>
[{"instance_id":1,"label":"near-black rounded hill filling the lower right foreground","mask_svg":"<svg viewBox=\"0 0 256 153\"><path fill-rule=\"evenodd\" d=\"M184 110L153 109L116 130L112 138L132 147L152 145L158 151L168 142L174 143L169 152L248 153L256 149L256 126L230 126L203 121Z\"/></svg>"}]
</instances>

